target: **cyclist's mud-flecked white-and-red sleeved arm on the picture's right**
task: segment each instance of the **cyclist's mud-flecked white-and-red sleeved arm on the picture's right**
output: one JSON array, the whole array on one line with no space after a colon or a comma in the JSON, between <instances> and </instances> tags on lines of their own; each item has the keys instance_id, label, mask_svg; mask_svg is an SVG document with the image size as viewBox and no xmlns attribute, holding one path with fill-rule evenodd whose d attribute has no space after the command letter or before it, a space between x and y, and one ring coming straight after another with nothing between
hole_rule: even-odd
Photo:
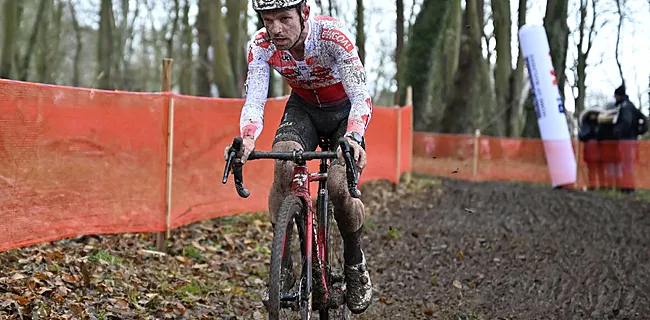
<instances>
[{"instance_id":1,"label":"cyclist's mud-flecked white-and-red sleeved arm on the picture's right","mask_svg":"<svg viewBox=\"0 0 650 320\"><path fill-rule=\"evenodd\" d=\"M323 26L323 38L330 39L326 46L339 66L343 88L352 103L346 133L356 131L363 136L372 117L372 101L366 87L366 71L352 41L354 38L340 21Z\"/></svg>"}]
</instances>

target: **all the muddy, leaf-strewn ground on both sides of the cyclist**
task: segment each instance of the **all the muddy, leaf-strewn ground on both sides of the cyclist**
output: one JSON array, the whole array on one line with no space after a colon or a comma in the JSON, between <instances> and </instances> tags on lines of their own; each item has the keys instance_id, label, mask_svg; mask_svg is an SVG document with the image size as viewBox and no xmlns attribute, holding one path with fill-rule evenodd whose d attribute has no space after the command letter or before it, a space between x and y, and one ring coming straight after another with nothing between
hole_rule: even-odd
<instances>
[{"instance_id":1,"label":"all the muddy, leaf-strewn ground on both sides of the cyclist","mask_svg":"<svg viewBox=\"0 0 650 320\"><path fill-rule=\"evenodd\" d=\"M422 178L362 188L375 301L355 319L648 319L650 202ZM263 319L264 214L0 253L0 319ZM31 317L29 317L31 316Z\"/></svg>"}]
</instances>

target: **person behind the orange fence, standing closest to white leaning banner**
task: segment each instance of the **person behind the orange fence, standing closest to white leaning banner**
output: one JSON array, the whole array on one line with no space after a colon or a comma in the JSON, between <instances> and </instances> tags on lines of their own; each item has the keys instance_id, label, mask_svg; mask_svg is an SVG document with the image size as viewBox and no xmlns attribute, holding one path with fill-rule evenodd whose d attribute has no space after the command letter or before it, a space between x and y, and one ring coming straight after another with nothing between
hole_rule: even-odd
<instances>
[{"instance_id":1,"label":"person behind the orange fence, standing closest to white leaning banner","mask_svg":"<svg viewBox=\"0 0 650 320\"><path fill-rule=\"evenodd\" d=\"M598 115L602 108L595 106L585 109L580 114L578 139L584 143L582 157L587 163L587 176L589 190L598 189L605 182L603 166L598 145Z\"/></svg>"}]
</instances>

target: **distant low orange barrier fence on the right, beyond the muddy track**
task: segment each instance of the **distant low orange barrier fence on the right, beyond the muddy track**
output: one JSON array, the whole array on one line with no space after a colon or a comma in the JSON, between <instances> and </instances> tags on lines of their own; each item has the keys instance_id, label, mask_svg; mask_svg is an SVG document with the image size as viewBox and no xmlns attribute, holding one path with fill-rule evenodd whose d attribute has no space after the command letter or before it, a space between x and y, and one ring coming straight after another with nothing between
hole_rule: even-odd
<instances>
[{"instance_id":1,"label":"distant low orange barrier fence on the right, beyond the muddy track","mask_svg":"<svg viewBox=\"0 0 650 320\"><path fill-rule=\"evenodd\" d=\"M650 141L572 144L575 187L650 189ZM539 139L415 132L412 170L473 181L551 182Z\"/></svg>"}]
</instances>

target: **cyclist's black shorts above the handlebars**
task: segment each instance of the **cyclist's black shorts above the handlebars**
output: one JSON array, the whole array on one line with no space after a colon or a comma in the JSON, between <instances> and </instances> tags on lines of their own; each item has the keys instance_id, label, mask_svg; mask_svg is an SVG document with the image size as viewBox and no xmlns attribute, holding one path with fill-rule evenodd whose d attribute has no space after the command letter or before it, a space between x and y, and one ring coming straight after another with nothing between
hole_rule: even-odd
<instances>
[{"instance_id":1,"label":"cyclist's black shorts above the handlebars","mask_svg":"<svg viewBox=\"0 0 650 320\"><path fill-rule=\"evenodd\" d=\"M338 139L347 131L351 108L350 100L321 108L292 92L275 132L273 145L280 141L295 141L304 151L315 151L321 138L324 138L330 139L329 151L334 151L338 147ZM365 139L361 147L365 150Z\"/></svg>"}]
</instances>

